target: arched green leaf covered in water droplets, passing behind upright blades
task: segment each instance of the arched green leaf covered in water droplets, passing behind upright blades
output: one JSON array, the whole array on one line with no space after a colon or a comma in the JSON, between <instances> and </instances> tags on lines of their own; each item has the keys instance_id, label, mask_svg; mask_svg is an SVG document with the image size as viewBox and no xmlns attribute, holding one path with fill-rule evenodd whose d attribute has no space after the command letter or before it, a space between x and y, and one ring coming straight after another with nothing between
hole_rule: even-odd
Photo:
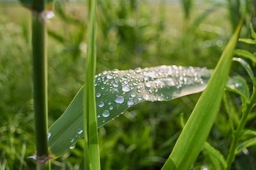
<instances>
[{"instance_id":1,"label":"arched green leaf covered in water droplets, passing behind upright blades","mask_svg":"<svg viewBox=\"0 0 256 170\"><path fill-rule=\"evenodd\" d=\"M169 101L201 92L211 72L205 68L181 66L104 71L95 78L98 127L143 101ZM83 137L83 89L49 129L48 142L54 157L67 152L77 139Z\"/></svg>"}]
</instances>

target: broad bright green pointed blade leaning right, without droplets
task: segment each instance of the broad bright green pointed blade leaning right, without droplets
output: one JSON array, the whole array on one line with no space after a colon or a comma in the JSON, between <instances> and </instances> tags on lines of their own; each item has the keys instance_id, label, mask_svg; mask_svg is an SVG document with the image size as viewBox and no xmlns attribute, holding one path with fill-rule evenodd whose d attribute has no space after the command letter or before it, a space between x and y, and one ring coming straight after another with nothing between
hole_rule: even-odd
<instances>
[{"instance_id":1,"label":"broad bright green pointed blade leaning right, without droplets","mask_svg":"<svg viewBox=\"0 0 256 170\"><path fill-rule=\"evenodd\" d=\"M206 89L196 103L195 109L191 113L170 157L166 160L162 169L168 169L170 162L172 164L174 162L179 170L189 169L202 150L220 109L221 98L232 62L233 50L236 47L240 29L241 23L225 47Z\"/></svg>"}]
</instances>

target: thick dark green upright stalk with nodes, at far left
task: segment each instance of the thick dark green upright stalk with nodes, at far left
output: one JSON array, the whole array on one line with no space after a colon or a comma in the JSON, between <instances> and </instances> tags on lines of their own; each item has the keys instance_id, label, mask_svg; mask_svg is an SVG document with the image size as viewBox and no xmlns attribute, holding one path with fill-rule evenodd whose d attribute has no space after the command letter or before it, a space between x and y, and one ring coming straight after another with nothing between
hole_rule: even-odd
<instances>
[{"instance_id":1,"label":"thick dark green upright stalk with nodes, at far left","mask_svg":"<svg viewBox=\"0 0 256 170\"><path fill-rule=\"evenodd\" d=\"M47 56L45 50L45 3L33 1L33 98L36 135L36 169L50 169L47 146Z\"/></svg>"}]
</instances>

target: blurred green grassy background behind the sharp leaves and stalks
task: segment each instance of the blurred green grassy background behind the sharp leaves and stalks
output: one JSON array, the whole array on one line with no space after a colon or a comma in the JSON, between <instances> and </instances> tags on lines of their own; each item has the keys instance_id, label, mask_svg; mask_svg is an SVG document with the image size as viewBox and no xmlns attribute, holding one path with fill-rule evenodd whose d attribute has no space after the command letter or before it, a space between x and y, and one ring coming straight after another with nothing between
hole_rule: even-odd
<instances>
[{"instance_id":1,"label":"blurred green grassy background behind the sharp leaves and stalks","mask_svg":"<svg viewBox=\"0 0 256 170\"><path fill-rule=\"evenodd\" d=\"M254 1L99 0L97 73L159 65L216 66L241 12L253 17ZM85 1L57 1L47 20L49 125L67 108L84 81L87 6ZM250 38L244 24L242 37ZM255 18L252 24L256 25ZM255 52L255 46L239 46ZM255 70L255 66L252 66ZM232 74L245 76L237 64ZM246 78L246 77L245 77ZM250 83L250 81L249 81ZM31 80L31 13L17 1L0 1L0 169L35 169ZM102 169L161 169L200 94L170 102L145 102L99 129ZM234 110L239 112L237 96ZM221 108L209 142L227 155L230 129ZM250 126L255 129L256 121ZM238 155L234 169L256 167L256 148ZM83 141L52 169L82 169ZM200 153L191 169L212 169Z\"/></svg>"}]
</instances>

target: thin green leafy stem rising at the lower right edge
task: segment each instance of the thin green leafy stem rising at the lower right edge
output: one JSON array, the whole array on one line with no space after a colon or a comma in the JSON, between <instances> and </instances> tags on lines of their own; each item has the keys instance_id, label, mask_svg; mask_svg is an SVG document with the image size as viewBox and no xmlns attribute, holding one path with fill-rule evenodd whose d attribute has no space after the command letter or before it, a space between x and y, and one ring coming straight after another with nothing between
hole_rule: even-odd
<instances>
[{"instance_id":1,"label":"thin green leafy stem rising at the lower right edge","mask_svg":"<svg viewBox=\"0 0 256 170\"><path fill-rule=\"evenodd\" d=\"M229 170L231 168L231 164L236 157L236 148L237 148L239 138L243 132L244 125L246 124L246 119L247 119L249 113L251 112L255 102L256 102L256 90L253 90L253 94L250 99L250 102L247 104L246 110L244 111L244 113L242 115L241 121L239 122L239 125L232 136L232 142L231 142L230 150L228 152L228 157L227 157L226 170Z\"/></svg>"}]
</instances>

